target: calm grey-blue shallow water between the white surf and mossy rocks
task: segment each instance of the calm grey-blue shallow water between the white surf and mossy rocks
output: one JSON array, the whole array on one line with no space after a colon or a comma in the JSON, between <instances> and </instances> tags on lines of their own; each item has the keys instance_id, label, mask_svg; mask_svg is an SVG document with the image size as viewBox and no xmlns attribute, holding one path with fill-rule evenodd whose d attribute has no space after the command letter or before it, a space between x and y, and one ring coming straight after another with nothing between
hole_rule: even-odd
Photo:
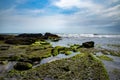
<instances>
[{"instance_id":1,"label":"calm grey-blue shallow water between the white surf and mossy rocks","mask_svg":"<svg viewBox=\"0 0 120 80\"><path fill-rule=\"evenodd\" d=\"M80 44L83 42L94 41L95 47L101 47L109 50L120 51L120 47L108 46L109 44L120 45L120 38L105 38L105 37L63 37L62 40L58 42L51 42L54 46L68 46L69 44Z\"/></svg>"}]
</instances>

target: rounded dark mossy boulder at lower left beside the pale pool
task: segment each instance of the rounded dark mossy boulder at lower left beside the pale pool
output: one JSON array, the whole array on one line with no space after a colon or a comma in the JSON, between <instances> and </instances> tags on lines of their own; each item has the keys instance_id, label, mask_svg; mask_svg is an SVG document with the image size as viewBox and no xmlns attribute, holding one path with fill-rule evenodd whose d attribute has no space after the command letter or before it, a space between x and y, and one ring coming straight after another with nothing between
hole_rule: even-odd
<instances>
[{"instance_id":1,"label":"rounded dark mossy boulder at lower left beside the pale pool","mask_svg":"<svg viewBox=\"0 0 120 80\"><path fill-rule=\"evenodd\" d=\"M28 70L32 68L32 64L28 62L18 62L14 66L16 70Z\"/></svg>"}]
</instances>

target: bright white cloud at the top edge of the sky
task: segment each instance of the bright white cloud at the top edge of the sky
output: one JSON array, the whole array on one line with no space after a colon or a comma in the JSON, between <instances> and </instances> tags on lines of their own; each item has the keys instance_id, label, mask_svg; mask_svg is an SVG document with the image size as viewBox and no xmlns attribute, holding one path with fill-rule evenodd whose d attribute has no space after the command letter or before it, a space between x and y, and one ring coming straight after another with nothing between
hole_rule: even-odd
<instances>
[{"instance_id":1,"label":"bright white cloud at the top edge of the sky","mask_svg":"<svg viewBox=\"0 0 120 80\"><path fill-rule=\"evenodd\" d=\"M73 7L95 11L102 9L101 5L95 4L92 0L57 0L53 2L53 5L63 9L70 9Z\"/></svg>"}]
</instances>

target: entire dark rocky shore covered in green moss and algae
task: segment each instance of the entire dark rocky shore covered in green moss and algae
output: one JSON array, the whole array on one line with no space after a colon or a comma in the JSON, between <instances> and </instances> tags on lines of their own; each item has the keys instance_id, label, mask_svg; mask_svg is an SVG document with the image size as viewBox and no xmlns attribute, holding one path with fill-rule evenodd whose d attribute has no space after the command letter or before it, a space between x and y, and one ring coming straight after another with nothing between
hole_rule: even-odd
<instances>
[{"instance_id":1,"label":"entire dark rocky shore covered in green moss and algae","mask_svg":"<svg viewBox=\"0 0 120 80\"><path fill-rule=\"evenodd\" d=\"M94 41L71 44L68 47L53 47L50 43L61 39L52 33L1 34L0 80L109 80L109 72L103 60L114 61L108 55L119 57L119 52L94 48ZM51 56L68 56L75 52L79 54L40 64L43 59ZM99 52L102 55L97 55Z\"/></svg>"}]
</instances>

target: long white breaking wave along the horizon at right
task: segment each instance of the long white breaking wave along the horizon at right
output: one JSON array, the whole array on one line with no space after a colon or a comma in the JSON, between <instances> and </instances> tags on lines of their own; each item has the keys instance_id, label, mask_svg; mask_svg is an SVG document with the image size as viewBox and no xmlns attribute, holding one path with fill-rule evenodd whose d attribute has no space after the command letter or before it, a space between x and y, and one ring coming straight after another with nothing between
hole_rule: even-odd
<instances>
[{"instance_id":1,"label":"long white breaking wave along the horizon at right","mask_svg":"<svg viewBox=\"0 0 120 80\"><path fill-rule=\"evenodd\" d=\"M108 34L108 35L105 35L105 34L57 34L61 37L67 37L67 38L70 38L70 37L74 37L74 38L79 38L79 37L98 37L98 38L120 38L120 35L111 35L111 34Z\"/></svg>"}]
</instances>

